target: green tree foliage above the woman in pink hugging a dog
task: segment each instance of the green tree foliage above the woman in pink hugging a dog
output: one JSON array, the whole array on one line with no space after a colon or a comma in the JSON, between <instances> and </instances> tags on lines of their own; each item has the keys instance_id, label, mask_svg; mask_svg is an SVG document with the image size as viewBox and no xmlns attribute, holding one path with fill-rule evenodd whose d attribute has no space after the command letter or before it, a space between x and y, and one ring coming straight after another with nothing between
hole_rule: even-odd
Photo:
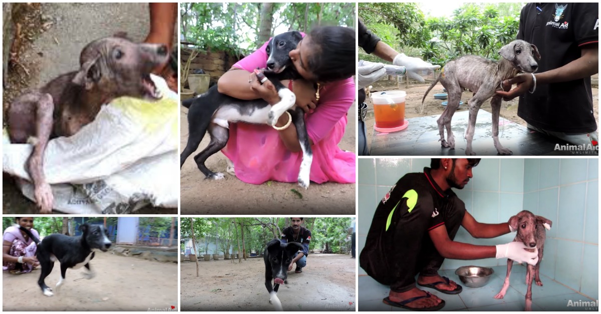
<instances>
[{"instance_id":1,"label":"green tree foliage above the woman in pink hugging a dog","mask_svg":"<svg viewBox=\"0 0 601 314\"><path fill-rule=\"evenodd\" d=\"M355 4L351 3L273 3L269 4L272 13L261 15L265 5L183 2L183 42L192 43L201 51L248 55L263 44L260 32L273 35L291 29L308 31L316 25L355 25ZM261 25L269 25L269 29L261 29Z\"/></svg>"}]
</instances>

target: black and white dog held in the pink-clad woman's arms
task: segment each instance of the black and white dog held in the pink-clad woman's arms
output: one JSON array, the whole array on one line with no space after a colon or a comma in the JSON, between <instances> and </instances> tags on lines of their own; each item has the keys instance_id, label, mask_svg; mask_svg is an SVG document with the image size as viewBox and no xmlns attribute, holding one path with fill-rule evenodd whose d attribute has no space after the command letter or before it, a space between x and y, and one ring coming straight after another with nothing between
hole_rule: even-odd
<instances>
[{"instance_id":1,"label":"black and white dog held in the pink-clad woman's arms","mask_svg":"<svg viewBox=\"0 0 601 314\"><path fill-rule=\"evenodd\" d=\"M279 116L288 111L291 116L291 122L296 128L303 153L298 182L305 189L309 187L309 173L311 162L313 162L313 152L309 145L304 111L294 104L296 101L294 93L280 82L282 79L300 78L292 66L292 61L288 53L295 49L301 40L302 35L300 32L290 31L274 36L269 45L267 45L266 52L269 58L267 59L267 69L263 70L263 74L273 83L276 91L278 91L281 100L275 105L270 106L263 99L240 100L227 96L219 93L217 85L209 88L209 91L198 97L182 102L183 106L189 108L189 136L188 144L186 144L186 148L180 155L180 168L183 166L186 158L198 148L204 134L209 131L211 137L209 146L194 156L194 161L207 179L223 179L224 174L214 173L204 165L204 162L209 156L219 152L227 144L230 137L228 122L248 122L274 126Z\"/></svg>"}]
</instances>

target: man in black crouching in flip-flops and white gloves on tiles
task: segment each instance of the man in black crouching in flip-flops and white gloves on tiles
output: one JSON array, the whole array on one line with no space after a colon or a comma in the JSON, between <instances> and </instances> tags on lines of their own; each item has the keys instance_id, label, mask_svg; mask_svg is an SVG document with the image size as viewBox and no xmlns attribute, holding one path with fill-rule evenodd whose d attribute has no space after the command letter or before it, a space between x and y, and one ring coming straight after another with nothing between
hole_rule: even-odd
<instances>
[{"instance_id":1,"label":"man in black crouching in flip-flops and white gloves on tiles","mask_svg":"<svg viewBox=\"0 0 601 314\"><path fill-rule=\"evenodd\" d=\"M445 301L415 286L459 294L462 287L441 277L445 258L509 258L535 265L538 252L522 242L472 245L453 239L463 226L474 238L495 238L514 230L508 223L478 223L451 188L462 189L480 159L432 159L423 173L408 173L377 206L359 263L369 276L390 286L383 302L409 310L439 310Z\"/></svg>"}]
</instances>

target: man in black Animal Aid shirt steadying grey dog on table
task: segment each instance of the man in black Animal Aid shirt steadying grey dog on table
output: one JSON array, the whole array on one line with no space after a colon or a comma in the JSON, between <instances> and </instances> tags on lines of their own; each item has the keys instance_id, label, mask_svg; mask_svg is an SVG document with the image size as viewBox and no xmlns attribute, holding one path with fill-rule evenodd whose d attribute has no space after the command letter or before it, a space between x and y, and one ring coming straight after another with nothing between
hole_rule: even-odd
<instances>
[{"instance_id":1,"label":"man in black Animal Aid shirt steadying grey dog on table","mask_svg":"<svg viewBox=\"0 0 601 314\"><path fill-rule=\"evenodd\" d=\"M599 72L599 4L526 4L517 39L537 46L538 73L508 79L504 89L517 88L497 93L505 100L520 96L517 115L529 129L596 146L591 75Z\"/></svg>"}]
</instances>

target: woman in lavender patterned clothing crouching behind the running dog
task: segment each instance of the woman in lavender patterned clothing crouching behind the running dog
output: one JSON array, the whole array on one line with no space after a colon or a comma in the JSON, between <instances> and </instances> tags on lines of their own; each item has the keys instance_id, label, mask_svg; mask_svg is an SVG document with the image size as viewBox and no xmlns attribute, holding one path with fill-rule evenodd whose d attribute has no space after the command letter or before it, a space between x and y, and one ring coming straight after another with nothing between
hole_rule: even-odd
<instances>
[{"instance_id":1,"label":"woman in lavender patterned clothing crouching behind the running dog","mask_svg":"<svg viewBox=\"0 0 601 314\"><path fill-rule=\"evenodd\" d=\"M40 238L37 230L33 229L33 217L16 217L15 222L29 229L36 238ZM31 272L34 267L40 265L35 257L36 249L37 245L33 239L19 227L8 227L2 235L2 271L9 271L11 274Z\"/></svg>"}]
</instances>

